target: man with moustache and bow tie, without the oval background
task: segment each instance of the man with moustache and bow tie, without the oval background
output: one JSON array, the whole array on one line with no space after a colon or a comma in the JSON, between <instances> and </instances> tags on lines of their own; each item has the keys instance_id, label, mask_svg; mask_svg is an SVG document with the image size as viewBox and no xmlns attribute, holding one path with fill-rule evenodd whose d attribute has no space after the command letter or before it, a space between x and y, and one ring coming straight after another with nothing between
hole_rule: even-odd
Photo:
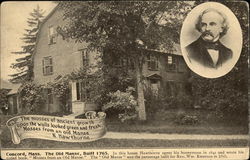
<instances>
[{"instance_id":1,"label":"man with moustache and bow tie, without the oval background","mask_svg":"<svg viewBox=\"0 0 250 160\"><path fill-rule=\"evenodd\" d=\"M201 36L186 47L191 63L197 61L205 67L217 68L232 58L232 50L220 42L228 30L225 15L215 9L206 9L195 26Z\"/></svg>"}]
</instances>

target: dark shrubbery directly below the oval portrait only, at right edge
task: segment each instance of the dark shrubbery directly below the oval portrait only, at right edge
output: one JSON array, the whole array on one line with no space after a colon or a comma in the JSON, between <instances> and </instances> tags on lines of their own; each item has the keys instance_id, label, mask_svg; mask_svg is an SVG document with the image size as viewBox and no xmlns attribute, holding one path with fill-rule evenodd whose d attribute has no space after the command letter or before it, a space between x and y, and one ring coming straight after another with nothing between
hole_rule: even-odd
<instances>
[{"instance_id":1,"label":"dark shrubbery directly below the oval portrait only, at right edge","mask_svg":"<svg viewBox=\"0 0 250 160\"><path fill-rule=\"evenodd\" d=\"M220 119L226 120L235 116L238 117L235 121L239 121L239 118L247 120L247 73L236 78L239 73L232 70L227 75L215 79L193 74L192 94L195 104L208 109Z\"/></svg>"}]
</instances>

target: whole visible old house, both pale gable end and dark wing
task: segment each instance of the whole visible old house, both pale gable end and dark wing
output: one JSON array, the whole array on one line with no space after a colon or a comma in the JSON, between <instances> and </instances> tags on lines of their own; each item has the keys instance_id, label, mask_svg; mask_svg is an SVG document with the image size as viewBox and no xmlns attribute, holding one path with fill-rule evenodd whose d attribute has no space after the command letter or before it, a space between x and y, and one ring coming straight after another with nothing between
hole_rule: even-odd
<instances>
[{"instance_id":1,"label":"whole visible old house, both pale gable end and dark wing","mask_svg":"<svg viewBox=\"0 0 250 160\"><path fill-rule=\"evenodd\" d=\"M35 54L33 56L34 64L34 82L36 84L46 84L60 79L64 75L77 71L85 65L96 63L98 52L87 52L86 43L76 43L72 39L65 38L58 30L59 25L64 25L62 13L55 8L42 22L38 32ZM150 86L156 94L162 88L173 94L176 87L181 87L187 76L187 66L180 55L178 46L172 53L163 53L160 51L151 51L147 56L147 61L143 67L143 74L147 78L147 85ZM125 60L126 61L126 60ZM120 60L121 63L126 63ZM119 65L123 65L119 64ZM95 110L93 103L85 101L86 93L82 92L84 85L80 81L70 82L71 88L71 111L73 113L82 113L87 110ZM60 101L53 95L50 88L46 91L45 112L60 112Z\"/></svg>"}]
</instances>

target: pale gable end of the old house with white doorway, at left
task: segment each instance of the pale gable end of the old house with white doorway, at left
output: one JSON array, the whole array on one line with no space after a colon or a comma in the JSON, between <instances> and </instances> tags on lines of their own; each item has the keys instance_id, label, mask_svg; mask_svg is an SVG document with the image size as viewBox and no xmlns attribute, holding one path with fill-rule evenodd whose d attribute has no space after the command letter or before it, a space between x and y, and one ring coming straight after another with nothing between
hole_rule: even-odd
<instances>
[{"instance_id":1,"label":"pale gable end of the old house with white doorway, at left","mask_svg":"<svg viewBox=\"0 0 250 160\"><path fill-rule=\"evenodd\" d=\"M36 84L45 85L53 82L64 75L77 71L86 63L92 64L95 61L95 54L84 50L85 43L75 43L58 34L57 27L63 24L65 22L62 19L62 13L55 8L40 25L36 51L33 56L33 81ZM72 81L70 85L72 112L95 109L93 104L82 100L81 83ZM52 94L51 88L47 88L45 93L47 100L43 111L60 112L60 101Z\"/></svg>"}]
</instances>

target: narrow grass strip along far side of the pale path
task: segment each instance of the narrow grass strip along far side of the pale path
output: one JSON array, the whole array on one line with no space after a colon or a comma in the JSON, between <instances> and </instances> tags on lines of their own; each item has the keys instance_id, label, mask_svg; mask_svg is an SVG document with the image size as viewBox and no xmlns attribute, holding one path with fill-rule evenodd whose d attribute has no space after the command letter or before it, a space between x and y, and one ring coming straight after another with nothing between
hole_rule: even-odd
<instances>
[{"instance_id":1,"label":"narrow grass strip along far side of the pale path","mask_svg":"<svg viewBox=\"0 0 250 160\"><path fill-rule=\"evenodd\" d=\"M108 131L114 132L148 132L148 133L177 133L177 134L248 134L245 126L226 126L226 125L205 125L196 126L166 124L164 121L152 121L148 123L124 124L119 121L107 122Z\"/></svg>"}]
</instances>

